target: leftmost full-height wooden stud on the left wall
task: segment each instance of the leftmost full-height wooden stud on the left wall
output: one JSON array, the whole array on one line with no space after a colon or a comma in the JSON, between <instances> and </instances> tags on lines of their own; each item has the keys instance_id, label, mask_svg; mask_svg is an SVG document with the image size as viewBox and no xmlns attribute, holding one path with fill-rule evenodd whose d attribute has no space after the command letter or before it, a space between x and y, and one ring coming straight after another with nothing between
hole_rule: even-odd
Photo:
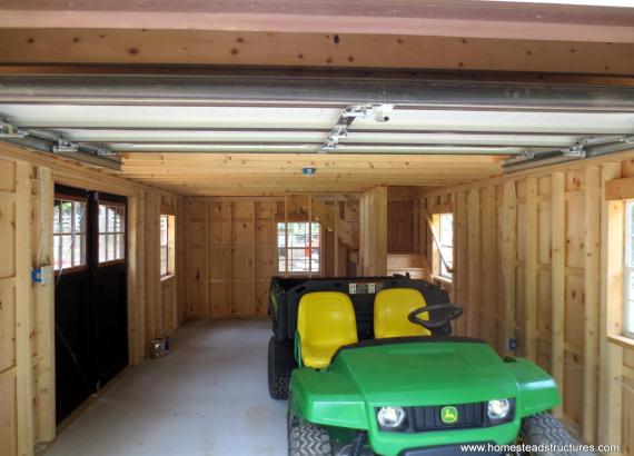
<instances>
[{"instance_id":1,"label":"leftmost full-height wooden stud on the left wall","mask_svg":"<svg viewBox=\"0 0 634 456\"><path fill-rule=\"evenodd\" d=\"M16 389L18 455L33 454L33 357L31 356L31 166L16 163Z\"/></svg>"}]
</instances>

